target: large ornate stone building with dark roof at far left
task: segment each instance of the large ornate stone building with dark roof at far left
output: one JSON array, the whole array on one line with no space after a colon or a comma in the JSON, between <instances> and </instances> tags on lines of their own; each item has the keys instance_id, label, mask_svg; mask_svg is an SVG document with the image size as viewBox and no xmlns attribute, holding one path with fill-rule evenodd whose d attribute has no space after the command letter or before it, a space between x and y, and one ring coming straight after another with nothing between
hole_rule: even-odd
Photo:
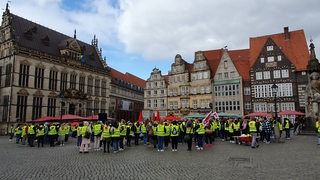
<instances>
[{"instance_id":1,"label":"large ornate stone building with dark roof at far left","mask_svg":"<svg viewBox=\"0 0 320 180\"><path fill-rule=\"evenodd\" d=\"M0 34L0 125L108 113L110 69L91 44L10 13Z\"/></svg>"}]
</instances>

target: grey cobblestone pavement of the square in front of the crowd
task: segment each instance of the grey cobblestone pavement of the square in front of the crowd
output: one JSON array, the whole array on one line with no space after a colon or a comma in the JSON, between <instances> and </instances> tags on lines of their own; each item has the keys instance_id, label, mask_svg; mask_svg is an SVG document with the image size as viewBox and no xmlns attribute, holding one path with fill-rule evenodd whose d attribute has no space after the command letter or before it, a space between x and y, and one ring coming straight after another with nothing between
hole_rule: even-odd
<instances>
[{"instance_id":1,"label":"grey cobblestone pavement of the square in front of the crowd","mask_svg":"<svg viewBox=\"0 0 320 180\"><path fill-rule=\"evenodd\" d=\"M119 153L80 154L76 139L65 146L29 147L0 137L0 179L320 179L316 136L293 136L285 143L252 149L216 139L203 151L179 144L164 152L140 144Z\"/></svg>"}]
</instances>

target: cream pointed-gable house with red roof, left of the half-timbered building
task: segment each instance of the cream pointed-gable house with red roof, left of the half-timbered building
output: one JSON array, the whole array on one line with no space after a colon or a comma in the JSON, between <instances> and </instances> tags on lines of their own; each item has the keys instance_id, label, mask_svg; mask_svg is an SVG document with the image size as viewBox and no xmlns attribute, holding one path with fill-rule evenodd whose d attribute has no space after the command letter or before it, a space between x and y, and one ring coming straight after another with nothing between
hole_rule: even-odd
<instances>
[{"instance_id":1,"label":"cream pointed-gable house with red roof, left of the half-timbered building","mask_svg":"<svg viewBox=\"0 0 320 180\"><path fill-rule=\"evenodd\" d=\"M214 50L210 55L208 53L207 58L212 62L211 69L214 72L213 109L243 116L245 110L251 108L251 99L248 98L250 91L247 92L250 88L249 49Z\"/></svg>"}]
</instances>

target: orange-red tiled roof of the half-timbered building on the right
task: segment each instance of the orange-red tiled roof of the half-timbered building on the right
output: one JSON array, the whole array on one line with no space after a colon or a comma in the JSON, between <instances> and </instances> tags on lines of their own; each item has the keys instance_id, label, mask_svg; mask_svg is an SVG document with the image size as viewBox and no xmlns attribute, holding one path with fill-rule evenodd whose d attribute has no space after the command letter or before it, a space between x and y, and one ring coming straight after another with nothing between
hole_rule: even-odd
<instances>
[{"instance_id":1,"label":"orange-red tiled roof of the half-timbered building on the right","mask_svg":"<svg viewBox=\"0 0 320 180\"><path fill-rule=\"evenodd\" d=\"M272 34L250 38L250 67L258 59L268 38L271 38L283 53L296 66L296 70L306 70L309 60L308 45L303 30L289 32L289 39L284 38L284 33Z\"/></svg>"}]
</instances>

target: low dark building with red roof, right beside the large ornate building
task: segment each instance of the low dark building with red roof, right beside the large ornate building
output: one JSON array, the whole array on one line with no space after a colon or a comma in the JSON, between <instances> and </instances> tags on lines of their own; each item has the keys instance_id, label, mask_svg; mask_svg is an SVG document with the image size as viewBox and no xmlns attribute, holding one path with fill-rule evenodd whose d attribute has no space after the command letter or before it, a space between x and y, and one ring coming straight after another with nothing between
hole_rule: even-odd
<instances>
[{"instance_id":1,"label":"low dark building with red roof, right beside the large ornate building","mask_svg":"<svg viewBox=\"0 0 320 180\"><path fill-rule=\"evenodd\" d=\"M143 92L146 81L130 73L110 68L110 117L116 120L138 120L143 109Z\"/></svg>"}]
</instances>

